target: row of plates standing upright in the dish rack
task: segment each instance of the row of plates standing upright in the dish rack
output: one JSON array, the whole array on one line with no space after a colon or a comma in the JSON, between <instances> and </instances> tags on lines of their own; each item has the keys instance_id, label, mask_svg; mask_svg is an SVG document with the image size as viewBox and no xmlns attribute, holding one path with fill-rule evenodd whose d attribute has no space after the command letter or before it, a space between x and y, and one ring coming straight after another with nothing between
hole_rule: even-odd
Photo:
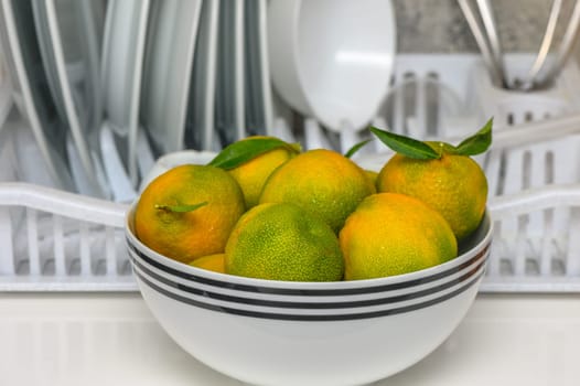
<instances>
[{"instance_id":1,"label":"row of plates standing upright in the dish rack","mask_svg":"<svg viewBox=\"0 0 580 386\"><path fill-rule=\"evenodd\" d=\"M266 0L0 4L23 181L128 202L161 156L277 135Z\"/></svg>"}]
</instances>

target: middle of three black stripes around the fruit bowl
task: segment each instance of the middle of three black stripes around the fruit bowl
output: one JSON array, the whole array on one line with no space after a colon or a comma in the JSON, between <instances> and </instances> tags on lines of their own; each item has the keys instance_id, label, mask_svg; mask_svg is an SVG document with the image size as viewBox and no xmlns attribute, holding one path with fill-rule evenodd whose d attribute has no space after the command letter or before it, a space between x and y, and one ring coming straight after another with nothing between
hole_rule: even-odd
<instances>
[{"instance_id":1,"label":"middle of three black stripes around the fruit bowl","mask_svg":"<svg viewBox=\"0 0 580 386\"><path fill-rule=\"evenodd\" d=\"M205 288L195 287L196 282L191 282L185 285L183 282L174 281L168 277L161 276L146 266L146 264L139 261L133 254L130 254L130 259L133 265L133 268L139 270L139 275L143 278L149 279L150 281L157 281L163 283L167 287L174 288L175 290L186 292L187 294L193 294L197 297L203 297L204 302L212 300L232 302L236 305L248 304L257 307L271 307L271 308L289 308L289 309L346 309L346 308L357 308L357 307L370 307L370 305L383 305L391 304L397 302L405 302L421 297L429 297L437 292L444 291L451 287L460 285L461 282L470 279L477 270L485 264L488 254L481 256L480 260L470 260L473 262L473 267L466 267L469 269L466 272L463 272L459 277L451 278L448 281L443 281L433 287L428 287L420 289L413 292L406 292L400 294L390 294L374 298L374 299L362 299L362 300L348 300L344 301L344 297L339 297L340 301L283 301L283 300L273 300L273 299L259 299L259 298L246 298L241 296L233 296L223 292L210 291ZM192 286L193 285L193 286ZM309 297L307 297L309 298Z\"/></svg>"}]
</instances>

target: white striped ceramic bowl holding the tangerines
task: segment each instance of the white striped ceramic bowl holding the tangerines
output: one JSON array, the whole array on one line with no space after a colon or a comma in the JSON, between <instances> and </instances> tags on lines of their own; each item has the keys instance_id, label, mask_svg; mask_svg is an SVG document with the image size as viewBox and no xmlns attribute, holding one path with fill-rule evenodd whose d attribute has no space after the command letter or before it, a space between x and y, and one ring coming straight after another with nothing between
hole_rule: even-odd
<instances>
[{"instance_id":1,"label":"white striped ceramic bowl holding the tangerines","mask_svg":"<svg viewBox=\"0 0 580 386\"><path fill-rule=\"evenodd\" d=\"M169 335L210 367L258 385L359 385L423 358L470 308L490 254L486 215L460 256L373 280L288 282L212 272L161 256L133 233L130 260Z\"/></svg>"}]
</instances>

